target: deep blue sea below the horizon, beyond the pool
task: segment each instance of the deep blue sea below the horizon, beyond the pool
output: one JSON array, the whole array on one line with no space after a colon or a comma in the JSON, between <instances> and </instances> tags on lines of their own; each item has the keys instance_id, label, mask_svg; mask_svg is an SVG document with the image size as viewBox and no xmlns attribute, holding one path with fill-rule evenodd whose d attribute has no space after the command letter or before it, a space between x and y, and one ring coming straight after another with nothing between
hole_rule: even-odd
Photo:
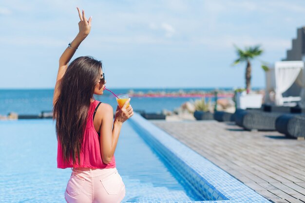
<instances>
[{"instance_id":1,"label":"deep blue sea below the horizon, beyond the pool","mask_svg":"<svg viewBox=\"0 0 305 203\"><path fill-rule=\"evenodd\" d=\"M126 94L135 92L143 96L131 97L131 105L134 111L161 113L163 110L173 111L179 108L185 102L192 102L200 97L185 96L157 96L147 97L145 94L151 92L211 92L212 88L195 88L195 89L111 89L115 94ZM223 91L232 91L232 88L224 88ZM41 111L52 111L54 89L0 89L0 115L7 115L10 112L18 114L39 114ZM96 100L110 104L114 111L116 109L116 100L112 93L104 91L103 95L94 95ZM71 98L73 99L73 98ZM211 102L215 101L214 97L205 98Z\"/></svg>"}]
</instances>

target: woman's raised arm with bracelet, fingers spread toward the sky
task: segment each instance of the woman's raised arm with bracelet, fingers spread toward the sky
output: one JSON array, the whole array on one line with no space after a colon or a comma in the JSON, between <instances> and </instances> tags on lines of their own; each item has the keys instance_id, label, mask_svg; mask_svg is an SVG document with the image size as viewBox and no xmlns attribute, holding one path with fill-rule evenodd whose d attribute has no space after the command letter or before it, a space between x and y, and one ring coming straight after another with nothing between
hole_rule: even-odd
<instances>
[{"instance_id":1,"label":"woman's raised arm with bracelet, fingers spread toward the sky","mask_svg":"<svg viewBox=\"0 0 305 203\"><path fill-rule=\"evenodd\" d=\"M60 94L59 92L59 83L63 75L65 74L68 64L73 57L76 49L78 48L79 44L89 35L90 29L91 29L91 20L90 17L89 20L87 20L85 16L84 10L82 10L82 15L80 13L79 8L77 8L78 15L80 21L78 22L78 34L76 35L75 39L71 42L71 47L67 47L66 50L62 53L62 55L59 58L59 68L57 72L57 78L56 78L56 84L54 88L54 96L53 96L53 106Z\"/></svg>"}]
</instances>

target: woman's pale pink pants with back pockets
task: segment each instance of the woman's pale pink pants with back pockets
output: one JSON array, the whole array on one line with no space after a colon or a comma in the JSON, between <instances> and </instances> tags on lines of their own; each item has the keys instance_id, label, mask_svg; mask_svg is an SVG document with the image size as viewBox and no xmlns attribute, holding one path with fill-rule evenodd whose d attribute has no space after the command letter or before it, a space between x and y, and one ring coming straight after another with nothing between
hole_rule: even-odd
<instances>
[{"instance_id":1,"label":"woman's pale pink pants with back pockets","mask_svg":"<svg viewBox=\"0 0 305 203\"><path fill-rule=\"evenodd\" d=\"M116 168L73 168L65 191L67 203L119 203L124 196Z\"/></svg>"}]
</instances>

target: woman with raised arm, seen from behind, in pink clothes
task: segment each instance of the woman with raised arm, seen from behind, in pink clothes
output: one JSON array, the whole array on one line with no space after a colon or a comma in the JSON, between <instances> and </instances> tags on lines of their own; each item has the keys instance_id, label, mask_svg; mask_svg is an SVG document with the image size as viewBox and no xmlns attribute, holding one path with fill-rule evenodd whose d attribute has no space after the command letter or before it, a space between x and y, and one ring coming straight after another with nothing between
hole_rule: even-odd
<instances>
[{"instance_id":1,"label":"woman with raised arm, seen from behind, in pink clothes","mask_svg":"<svg viewBox=\"0 0 305 203\"><path fill-rule=\"evenodd\" d=\"M103 94L106 84L100 61L82 56L68 65L91 29L92 18L87 20L84 10L77 11L79 32L59 58L54 90L57 167L72 168L65 191L68 203L119 203L125 185L115 167L114 151L122 124L133 109L126 108L127 101L122 109L117 107L114 117L109 104L93 98Z\"/></svg>"}]
</instances>

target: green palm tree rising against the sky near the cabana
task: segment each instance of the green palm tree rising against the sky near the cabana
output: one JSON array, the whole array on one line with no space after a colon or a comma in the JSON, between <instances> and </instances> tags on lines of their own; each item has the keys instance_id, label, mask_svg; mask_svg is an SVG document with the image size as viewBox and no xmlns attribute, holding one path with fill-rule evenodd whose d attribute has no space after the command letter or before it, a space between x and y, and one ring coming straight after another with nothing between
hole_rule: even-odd
<instances>
[{"instance_id":1,"label":"green palm tree rising against the sky near the cabana","mask_svg":"<svg viewBox=\"0 0 305 203\"><path fill-rule=\"evenodd\" d=\"M251 90L251 63L250 61L256 58L259 55L263 54L263 50L260 48L259 45L253 46L253 47L246 47L245 50L242 50L235 46L236 49L236 54L238 58L234 61L232 65L237 65L240 62L247 62L247 67L246 67L246 89L247 89L247 94ZM268 70L268 67L266 65L262 65L262 68L264 71Z\"/></svg>"}]
</instances>

